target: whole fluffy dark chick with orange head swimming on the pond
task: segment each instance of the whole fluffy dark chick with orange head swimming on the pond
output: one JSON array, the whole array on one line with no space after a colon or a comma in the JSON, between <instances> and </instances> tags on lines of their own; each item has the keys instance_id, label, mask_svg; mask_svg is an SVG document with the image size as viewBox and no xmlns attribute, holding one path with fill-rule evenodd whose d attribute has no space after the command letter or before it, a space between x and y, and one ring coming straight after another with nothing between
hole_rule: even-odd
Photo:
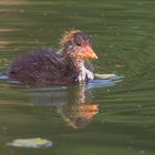
<instances>
[{"instance_id":1,"label":"whole fluffy dark chick with orange head swimming on the pond","mask_svg":"<svg viewBox=\"0 0 155 155\"><path fill-rule=\"evenodd\" d=\"M9 79L34 85L85 84L94 79L86 62L97 59L89 37L81 30L62 35L58 50L38 48L10 64Z\"/></svg>"}]
</instances>

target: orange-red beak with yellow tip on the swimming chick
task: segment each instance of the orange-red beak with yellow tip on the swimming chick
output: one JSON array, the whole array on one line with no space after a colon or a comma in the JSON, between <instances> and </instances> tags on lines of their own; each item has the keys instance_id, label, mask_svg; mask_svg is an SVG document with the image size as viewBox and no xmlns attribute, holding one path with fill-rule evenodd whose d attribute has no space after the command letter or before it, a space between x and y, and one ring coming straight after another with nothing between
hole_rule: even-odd
<instances>
[{"instance_id":1,"label":"orange-red beak with yellow tip on the swimming chick","mask_svg":"<svg viewBox=\"0 0 155 155\"><path fill-rule=\"evenodd\" d=\"M93 51L93 49L90 45L83 46L82 51L83 51L84 59L86 59L86 60L97 59L97 55L95 54L95 52Z\"/></svg>"}]
</instances>

